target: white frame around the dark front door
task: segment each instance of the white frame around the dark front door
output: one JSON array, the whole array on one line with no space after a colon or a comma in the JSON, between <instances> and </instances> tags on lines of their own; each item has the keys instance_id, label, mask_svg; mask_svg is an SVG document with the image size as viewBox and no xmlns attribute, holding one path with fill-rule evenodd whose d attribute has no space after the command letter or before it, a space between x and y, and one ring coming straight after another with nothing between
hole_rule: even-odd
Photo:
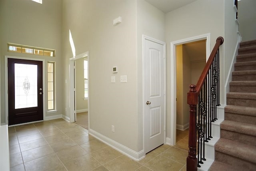
<instances>
[{"instance_id":1,"label":"white frame around the dark front door","mask_svg":"<svg viewBox=\"0 0 256 171\"><path fill-rule=\"evenodd\" d=\"M43 119L46 119L45 112L45 60L38 59L38 58L24 58L24 57L17 57L17 56L4 56L5 64L4 64L4 71L5 71L5 124L8 125L8 58L13 59L22 59L22 60L32 60L32 61L42 61L43 62ZM22 125L22 124L20 124Z\"/></svg>"}]
</instances>

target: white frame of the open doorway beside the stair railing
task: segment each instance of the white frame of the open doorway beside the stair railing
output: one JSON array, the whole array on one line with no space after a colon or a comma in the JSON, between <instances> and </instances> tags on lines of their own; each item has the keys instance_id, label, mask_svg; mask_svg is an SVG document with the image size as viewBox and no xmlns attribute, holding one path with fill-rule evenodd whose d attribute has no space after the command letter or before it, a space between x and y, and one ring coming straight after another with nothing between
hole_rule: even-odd
<instances>
[{"instance_id":1,"label":"white frame of the open doorway beside the stair railing","mask_svg":"<svg viewBox=\"0 0 256 171\"><path fill-rule=\"evenodd\" d=\"M176 46L180 44L185 44L189 42L196 42L199 40L206 40L206 62L210 56L210 33L202 34L199 36L194 36L191 38L185 38L182 40L177 40L170 42L171 46L171 66L170 66L170 79L171 79L171 117L170 117L170 142L168 144L175 145L176 143Z\"/></svg>"}]
</instances>

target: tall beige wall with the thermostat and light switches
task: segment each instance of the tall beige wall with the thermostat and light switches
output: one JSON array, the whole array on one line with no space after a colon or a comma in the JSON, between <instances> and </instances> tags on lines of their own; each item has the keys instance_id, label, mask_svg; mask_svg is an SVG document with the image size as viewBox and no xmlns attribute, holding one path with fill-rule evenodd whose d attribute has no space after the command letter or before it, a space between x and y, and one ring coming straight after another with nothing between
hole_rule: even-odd
<instances>
[{"instance_id":1,"label":"tall beige wall with the thermostat and light switches","mask_svg":"<svg viewBox=\"0 0 256 171\"><path fill-rule=\"evenodd\" d=\"M90 131L138 152L138 86L136 52L136 0L63 0L63 107L69 111L69 63L72 52L89 52ZM122 23L113 26L113 20ZM112 68L117 66L118 72ZM127 83L120 83L126 75ZM110 83L110 77L116 83ZM65 115L70 117L70 113ZM112 132L111 125L115 126Z\"/></svg>"}]
</instances>

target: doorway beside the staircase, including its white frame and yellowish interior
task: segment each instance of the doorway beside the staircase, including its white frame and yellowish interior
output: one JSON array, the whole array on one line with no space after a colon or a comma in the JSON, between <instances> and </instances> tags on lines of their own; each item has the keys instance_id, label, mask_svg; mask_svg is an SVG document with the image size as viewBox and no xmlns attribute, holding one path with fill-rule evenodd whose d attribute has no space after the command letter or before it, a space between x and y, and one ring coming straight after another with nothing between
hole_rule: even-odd
<instances>
[{"instance_id":1,"label":"doorway beside the staircase, including its white frame and yellowish interior","mask_svg":"<svg viewBox=\"0 0 256 171\"><path fill-rule=\"evenodd\" d=\"M188 137L187 92L197 80L210 55L210 34L171 42L170 145Z\"/></svg>"}]
</instances>

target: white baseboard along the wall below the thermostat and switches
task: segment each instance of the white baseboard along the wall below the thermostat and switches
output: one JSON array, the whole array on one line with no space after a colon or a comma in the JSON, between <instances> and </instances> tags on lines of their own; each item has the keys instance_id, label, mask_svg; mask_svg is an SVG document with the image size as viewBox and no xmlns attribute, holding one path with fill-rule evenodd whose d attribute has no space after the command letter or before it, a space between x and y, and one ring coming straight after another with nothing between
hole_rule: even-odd
<instances>
[{"instance_id":1,"label":"white baseboard along the wall below the thermostat and switches","mask_svg":"<svg viewBox=\"0 0 256 171\"><path fill-rule=\"evenodd\" d=\"M100 141L106 143L107 145L109 145L110 147L116 149L117 151L119 151L120 153L134 159L135 161L139 161L141 159L143 159L145 157L145 153L144 150L136 152L92 129L89 129L89 134L94 136L95 138L99 139Z\"/></svg>"}]
</instances>

